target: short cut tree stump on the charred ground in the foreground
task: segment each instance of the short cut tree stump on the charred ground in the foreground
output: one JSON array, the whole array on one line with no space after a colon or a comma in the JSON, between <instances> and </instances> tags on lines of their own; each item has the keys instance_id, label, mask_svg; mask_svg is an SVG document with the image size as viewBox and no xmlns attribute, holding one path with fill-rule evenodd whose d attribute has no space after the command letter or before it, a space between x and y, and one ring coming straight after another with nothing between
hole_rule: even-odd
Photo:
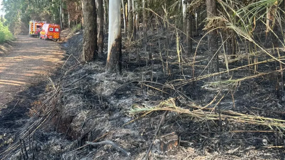
<instances>
[{"instance_id":1,"label":"short cut tree stump on the charred ground in the foreground","mask_svg":"<svg viewBox=\"0 0 285 160\"><path fill-rule=\"evenodd\" d=\"M160 139L160 150L162 153L176 154L179 138L177 135L162 136Z\"/></svg>"}]
</instances>

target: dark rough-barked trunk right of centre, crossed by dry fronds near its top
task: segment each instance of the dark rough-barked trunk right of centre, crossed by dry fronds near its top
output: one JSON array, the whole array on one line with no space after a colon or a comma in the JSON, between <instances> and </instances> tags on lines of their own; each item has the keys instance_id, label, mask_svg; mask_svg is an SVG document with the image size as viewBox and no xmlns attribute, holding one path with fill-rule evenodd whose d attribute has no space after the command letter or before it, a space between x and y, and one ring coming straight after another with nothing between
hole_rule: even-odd
<instances>
[{"instance_id":1,"label":"dark rough-barked trunk right of centre, crossed by dry fronds near its top","mask_svg":"<svg viewBox=\"0 0 285 160\"><path fill-rule=\"evenodd\" d=\"M216 0L206 0L207 6L207 17L213 17L217 15ZM208 29L208 32L212 30ZM213 30L208 33L208 69L209 74L219 72L219 58L218 58L218 34L217 30ZM219 75L212 76L210 78L212 81L217 81Z\"/></svg>"}]
</instances>

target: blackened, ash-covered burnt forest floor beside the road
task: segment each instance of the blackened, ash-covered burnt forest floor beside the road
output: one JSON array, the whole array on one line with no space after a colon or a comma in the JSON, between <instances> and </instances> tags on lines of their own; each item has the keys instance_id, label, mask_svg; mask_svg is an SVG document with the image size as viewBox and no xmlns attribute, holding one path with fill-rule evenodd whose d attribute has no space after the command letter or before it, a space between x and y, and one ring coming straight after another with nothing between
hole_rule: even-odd
<instances>
[{"instance_id":1,"label":"blackened, ash-covered burnt forest floor beside the road","mask_svg":"<svg viewBox=\"0 0 285 160\"><path fill-rule=\"evenodd\" d=\"M29 110L21 110L21 112L12 110L9 113L16 103L13 101L7 110L3 111L5 114L2 118L6 117L6 119L4 119L4 127L2 127L4 130L1 130L0 135L5 134L3 139L6 141L10 139L10 141L0 147L0 158L20 159L19 138L22 138L26 142L30 158L32 157L31 146L37 146L38 149L34 151L35 159L142 159L153 140L163 112L152 112L123 126L134 119L134 116L127 111L135 105L140 107L156 106L170 97L175 98L177 106L193 110L187 104L195 103L205 106L220 92L217 100L209 105L209 108L215 107L217 101L225 95L218 104L218 110L214 110L213 114L218 114L219 109L236 110L242 114L284 120L284 97L280 94L280 98L277 98L276 79L266 78L266 76L213 87L202 87L208 82L207 79L203 79L185 85L182 95L177 91L166 89L162 94L157 90L163 88L159 84L129 83L132 81L153 81L166 84L166 82L175 79L184 79L184 76L185 79L192 77L192 67L186 58L181 63L183 72L179 68L175 37L168 37L170 46L167 49L168 65L171 68L171 75L167 74L165 64L167 52L161 46L160 50L164 61L162 64L157 45L157 42L160 44L166 42L164 37L165 35L160 30L154 30L154 33L149 35L151 43L149 43L148 52L152 52L152 60L146 58L145 52L136 49L136 45L140 45L139 43L128 42L125 39L123 41L123 45L126 46L123 49L123 71L121 74L110 75L105 73L104 60L78 63L81 60L82 31L75 33L62 44L69 54L62 71L52 81L43 84L44 87L38 86L41 89L36 90L40 92L32 93L31 96L48 94L28 99L26 104L29 105ZM201 36L196 37L195 40L198 41L200 38ZM204 69L203 66L207 65L205 61L207 55L204 49L207 48L205 45L207 43L206 40L202 42L196 56L196 61L200 61L196 66L196 74L200 74ZM107 48L106 44L105 48ZM194 47L196 45L194 43ZM104 52L106 51L104 50ZM138 53L139 61L137 60ZM239 54L245 54L242 48ZM281 50L280 54L284 55L284 51ZM235 58L237 60L231 60L235 62L230 63L230 68L247 63L247 59ZM223 56L219 59L220 68L225 69ZM259 57L259 61L264 59L269 58ZM276 66L278 64L275 62L268 62L258 65L258 71L268 71L268 68L274 70ZM206 72L207 69L202 75L206 75ZM248 75L248 69L240 69L235 71L233 79L246 75ZM220 77L228 79L229 75L225 73ZM129 84L124 85L126 83ZM175 83L173 84L175 85ZM119 89L117 89L118 87ZM42 90L43 88L44 90ZM233 92L234 100L229 93L230 90ZM9 114L6 115L6 113ZM17 115L24 115L20 122L18 122L18 118L11 119ZM180 140L188 143L187 145L181 143L176 155L168 155L159 152L156 141L149 159L284 159L283 140L278 137L278 132L275 133L278 128L271 127L225 119L219 122L219 120L200 119L170 112L166 116L159 136L175 132ZM125 156L110 145L85 146L77 149L84 145L90 137L97 141L111 140L127 149L131 155ZM278 143L278 141L281 142ZM27 144L28 142L30 143ZM274 147L276 145L278 147ZM77 150L74 151L74 149Z\"/></svg>"}]
</instances>

